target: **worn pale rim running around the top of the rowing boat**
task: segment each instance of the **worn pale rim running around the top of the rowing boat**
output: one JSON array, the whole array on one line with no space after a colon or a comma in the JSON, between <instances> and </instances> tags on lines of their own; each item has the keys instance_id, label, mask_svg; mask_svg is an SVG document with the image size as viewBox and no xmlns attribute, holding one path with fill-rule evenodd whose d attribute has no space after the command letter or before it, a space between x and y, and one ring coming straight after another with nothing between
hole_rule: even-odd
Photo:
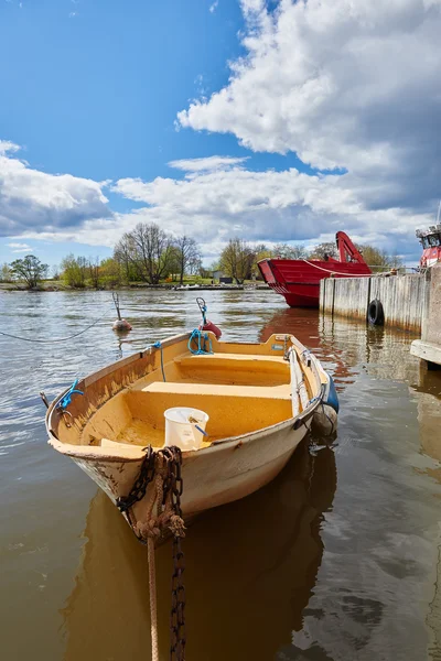
<instances>
[{"instance_id":1,"label":"worn pale rim running around the top of the rowing boat","mask_svg":"<svg viewBox=\"0 0 441 661\"><path fill-rule=\"evenodd\" d=\"M278 333L276 335L289 335L291 343L293 345L295 345L295 347L298 349L299 358L303 354L308 354L308 357L311 358L311 371L315 379L318 394L310 400L310 402L309 402L308 407L304 409L304 411L302 411L295 418L291 416L291 418L288 418L287 420L282 420L281 422L277 422L277 423L268 425L266 427L255 430L254 432L246 432L238 436L229 436L227 438L214 441L211 445L208 445L206 447L202 447L200 449L183 452L182 453L183 458L186 459L186 458L194 457L196 455L201 455L201 453L207 454L209 451L213 452L216 449L225 448L228 444L230 444L232 446L236 445L237 447L240 447L240 445L243 443L251 443L252 441L259 438L261 435L268 435L270 433L277 432L279 430L283 430L287 426L290 426L293 424L295 424L295 425L298 424L300 426L301 424L305 424L309 421L309 419L312 416L314 410L319 407L319 404L322 402L322 400L325 395L326 382L324 381L324 379L329 379L329 377L327 377L326 372L324 371L323 367L321 366L316 356L314 356L314 354L310 353L309 349L306 347L304 347L304 345L302 345L302 343L294 335L288 334L288 333L287 334ZM164 342L161 342L161 347L163 348L163 347L171 346L178 342L189 338L190 336L191 336L191 333L182 333L180 335L173 335L173 336L169 337L168 339L165 339ZM236 344L236 345L240 344L240 345L248 345L248 346L249 345L259 346L259 345L266 344L266 343L223 343L223 344ZM122 358L120 360L117 360L116 362L112 362L111 365L100 368L96 372L93 372L92 375L82 379L82 381L84 381L85 387L88 387L92 383L96 382L98 379L103 378L104 376L111 373L111 371L116 371L118 368L120 368L122 366L130 365L131 362L135 362L136 360L143 358L143 356L146 356L146 354L151 355L159 349L160 349L159 347L153 347L153 346L147 347L142 351L137 351L136 354L128 356L127 358ZM110 370L110 368L112 368L112 370ZM142 447L141 445L133 445L132 447L130 447L130 451L128 451L128 448L121 448L119 451L119 454L115 454L115 452L109 454L108 448L105 448L105 447L101 447L98 445L76 445L76 444L72 444L72 443L63 443L62 441L60 441L56 437L53 430L51 429L51 421L52 421L52 415L54 414L54 412L56 410L57 403L66 394L66 392L68 392L68 390L69 390L69 388L66 388L66 390L64 390L58 397L56 397L51 402L51 404L47 409L47 412L46 412L46 416L45 416L45 426L46 426L46 431L49 434L49 444L54 449L56 449L61 454L64 454L66 456L71 456L71 457L77 458L77 459L104 460L104 462L110 462L110 463L139 462L146 456L144 449L147 446ZM123 390L129 390L129 388L126 387L120 392L123 392ZM114 448L114 451L115 449L116 448ZM137 454L135 454L136 451L139 451L139 452ZM129 454L129 452L130 452L130 454ZM133 453L133 454L131 454L131 453Z\"/></svg>"}]
</instances>

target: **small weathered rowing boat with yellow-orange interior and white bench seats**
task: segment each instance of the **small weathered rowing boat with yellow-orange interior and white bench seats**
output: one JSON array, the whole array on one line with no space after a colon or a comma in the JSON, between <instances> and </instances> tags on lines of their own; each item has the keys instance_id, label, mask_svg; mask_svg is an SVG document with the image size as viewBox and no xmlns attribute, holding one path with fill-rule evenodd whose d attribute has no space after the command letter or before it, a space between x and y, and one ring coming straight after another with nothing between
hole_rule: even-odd
<instances>
[{"instance_id":1,"label":"small weathered rowing boat with yellow-orange interior and white bench seats","mask_svg":"<svg viewBox=\"0 0 441 661\"><path fill-rule=\"evenodd\" d=\"M78 394L65 391L47 410L50 444L120 502L146 447L164 444L164 411L190 407L209 422L201 448L182 453L186 521L268 484L323 409L330 377L292 335L262 344L205 338L211 353L195 354L191 334L178 335L80 380ZM125 512L133 529L149 516L151 487Z\"/></svg>"}]
</instances>

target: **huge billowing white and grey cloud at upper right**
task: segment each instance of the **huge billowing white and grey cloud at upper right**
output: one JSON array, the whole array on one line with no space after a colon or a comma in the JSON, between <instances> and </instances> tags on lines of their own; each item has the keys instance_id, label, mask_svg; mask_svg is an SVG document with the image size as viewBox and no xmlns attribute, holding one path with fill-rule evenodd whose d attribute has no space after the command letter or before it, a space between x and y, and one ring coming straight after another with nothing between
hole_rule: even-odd
<instances>
[{"instance_id":1,"label":"huge billowing white and grey cloud at upper right","mask_svg":"<svg viewBox=\"0 0 441 661\"><path fill-rule=\"evenodd\" d=\"M241 0L247 55L179 113L254 151L345 169L370 208L429 209L440 194L440 0Z\"/></svg>"}]
</instances>

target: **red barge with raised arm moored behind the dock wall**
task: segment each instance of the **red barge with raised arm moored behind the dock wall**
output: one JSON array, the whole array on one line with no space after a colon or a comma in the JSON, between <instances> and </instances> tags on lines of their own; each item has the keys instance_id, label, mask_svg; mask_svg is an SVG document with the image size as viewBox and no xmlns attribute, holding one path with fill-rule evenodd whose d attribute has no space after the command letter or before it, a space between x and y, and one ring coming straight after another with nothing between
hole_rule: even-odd
<instances>
[{"instance_id":1,"label":"red barge with raised arm moored behind the dock wall","mask_svg":"<svg viewBox=\"0 0 441 661\"><path fill-rule=\"evenodd\" d=\"M323 278L370 275L369 267L349 237L337 231L335 240L340 259L262 259L258 267L265 282L284 296L290 307L319 307Z\"/></svg>"}]
</instances>

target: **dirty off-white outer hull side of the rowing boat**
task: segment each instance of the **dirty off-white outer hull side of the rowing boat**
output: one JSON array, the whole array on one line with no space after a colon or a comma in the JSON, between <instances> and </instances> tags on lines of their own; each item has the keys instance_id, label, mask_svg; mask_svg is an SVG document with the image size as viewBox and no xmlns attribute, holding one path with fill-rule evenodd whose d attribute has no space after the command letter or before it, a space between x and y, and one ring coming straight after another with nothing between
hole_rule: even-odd
<instances>
[{"instance_id":1,"label":"dirty off-white outer hull side of the rowing boat","mask_svg":"<svg viewBox=\"0 0 441 661\"><path fill-rule=\"evenodd\" d=\"M185 453L182 463L184 519L257 491L270 483L286 466L310 427L305 421L297 430L293 420L248 436L238 436ZM127 496L141 469L141 459L115 460L111 456L75 457L74 462L116 502ZM132 507L132 523L146 522L144 498Z\"/></svg>"}]
</instances>

